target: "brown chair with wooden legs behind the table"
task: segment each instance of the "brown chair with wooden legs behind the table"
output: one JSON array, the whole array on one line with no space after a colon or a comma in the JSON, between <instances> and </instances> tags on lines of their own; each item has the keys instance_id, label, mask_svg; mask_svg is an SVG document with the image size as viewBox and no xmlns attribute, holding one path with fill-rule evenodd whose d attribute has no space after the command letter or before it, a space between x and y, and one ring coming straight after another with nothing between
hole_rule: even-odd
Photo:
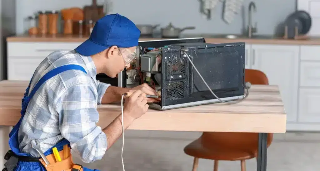
<instances>
[{"instance_id":1,"label":"brown chair with wooden legs behind the table","mask_svg":"<svg viewBox=\"0 0 320 171\"><path fill-rule=\"evenodd\" d=\"M245 69L244 77L245 82L251 84L269 84L267 76L259 70ZM272 139L273 133L268 133L267 147ZM241 171L245 171L245 160L257 157L258 133L203 132L184 148L184 152L194 157L193 171L198 167L199 158L214 160L214 171L218 171L219 160L240 160Z\"/></svg>"}]
</instances>

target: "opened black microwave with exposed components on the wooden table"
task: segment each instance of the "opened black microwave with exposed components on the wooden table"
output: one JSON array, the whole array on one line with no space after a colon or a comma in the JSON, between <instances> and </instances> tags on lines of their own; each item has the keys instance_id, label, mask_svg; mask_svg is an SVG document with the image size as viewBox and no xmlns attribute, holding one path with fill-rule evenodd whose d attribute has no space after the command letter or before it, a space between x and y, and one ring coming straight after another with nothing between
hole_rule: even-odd
<instances>
[{"instance_id":1,"label":"opened black microwave with exposed components on the wooden table","mask_svg":"<svg viewBox=\"0 0 320 171\"><path fill-rule=\"evenodd\" d=\"M140 41L137 50L138 59L118 74L118 86L147 83L161 95L159 102L149 104L150 108L168 110L245 97L244 42L152 40Z\"/></svg>"}]
</instances>

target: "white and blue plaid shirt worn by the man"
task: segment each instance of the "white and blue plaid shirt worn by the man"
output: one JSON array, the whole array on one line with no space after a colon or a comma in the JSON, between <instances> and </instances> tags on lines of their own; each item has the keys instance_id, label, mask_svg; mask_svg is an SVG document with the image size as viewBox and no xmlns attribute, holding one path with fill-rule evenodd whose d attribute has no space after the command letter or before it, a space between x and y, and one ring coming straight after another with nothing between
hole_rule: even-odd
<instances>
[{"instance_id":1,"label":"white and blue plaid shirt worn by the man","mask_svg":"<svg viewBox=\"0 0 320 171\"><path fill-rule=\"evenodd\" d=\"M97 70L90 56L74 50L49 54L36 69L30 92L44 74L67 64L80 65L88 74L68 70L52 77L37 90L19 129L20 151L40 157L31 147L32 141L39 143L45 152L65 138L84 162L100 160L107 150L107 137L96 125L99 120L97 104L101 104L110 84L95 79Z\"/></svg>"}]
</instances>

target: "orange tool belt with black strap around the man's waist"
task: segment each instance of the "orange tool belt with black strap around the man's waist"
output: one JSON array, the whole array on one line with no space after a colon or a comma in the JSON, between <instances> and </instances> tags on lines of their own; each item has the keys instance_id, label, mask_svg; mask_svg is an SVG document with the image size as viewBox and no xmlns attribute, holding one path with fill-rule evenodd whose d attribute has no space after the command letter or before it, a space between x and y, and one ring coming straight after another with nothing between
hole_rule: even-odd
<instances>
[{"instance_id":1,"label":"orange tool belt with black strap around the man's waist","mask_svg":"<svg viewBox=\"0 0 320 171\"><path fill-rule=\"evenodd\" d=\"M70 147L65 145L63 149L59 151L61 161L56 161L54 153L46 156L50 164L46 164L41 157L17 156L9 150L4 156L7 162L4 164L5 168L2 171L12 171L17 166L18 161L40 162L47 171L83 171L82 165L73 163Z\"/></svg>"}]
</instances>

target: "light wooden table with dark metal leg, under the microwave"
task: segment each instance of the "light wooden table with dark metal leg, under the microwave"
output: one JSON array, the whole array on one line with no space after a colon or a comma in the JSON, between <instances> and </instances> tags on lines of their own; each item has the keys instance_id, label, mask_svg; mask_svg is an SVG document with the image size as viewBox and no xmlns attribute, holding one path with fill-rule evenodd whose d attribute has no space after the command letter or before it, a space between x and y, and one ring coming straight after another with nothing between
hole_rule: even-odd
<instances>
[{"instance_id":1,"label":"light wooden table with dark metal leg, under the microwave","mask_svg":"<svg viewBox=\"0 0 320 171\"><path fill-rule=\"evenodd\" d=\"M25 81L0 82L0 125L14 126L20 119ZM98 125L106 127L121 113L119 104L98 106ZM266 171L267 133L285 133L286 113L275 85L252 85L249 96L237 104L215 103L148 112L135 120L131 130L258 132L258 171ZM0 152L5 153L5 152Z\"/></svg>"}]
</instances>

